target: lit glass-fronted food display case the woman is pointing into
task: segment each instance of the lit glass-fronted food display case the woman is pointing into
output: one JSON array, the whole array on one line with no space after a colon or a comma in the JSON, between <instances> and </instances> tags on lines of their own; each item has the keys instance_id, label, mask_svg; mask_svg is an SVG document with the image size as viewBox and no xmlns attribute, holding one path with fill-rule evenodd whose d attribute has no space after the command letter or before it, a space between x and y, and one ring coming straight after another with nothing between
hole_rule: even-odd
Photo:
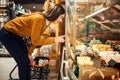
<instances>
[{"instance_id":1,"label":"lit glass-fronted food display case the woman is pointing into","mask_svg":"<svg viewBox=\"0 0 120 80\"><path fill-rule=\"evenodd\" d=\"M63 49L62 79L118 79L119 69L110 66L106 59L117 57L115 59L119 63L119 36L119 0L66 1L66 43Z\"/></svg>"}]
</instances>

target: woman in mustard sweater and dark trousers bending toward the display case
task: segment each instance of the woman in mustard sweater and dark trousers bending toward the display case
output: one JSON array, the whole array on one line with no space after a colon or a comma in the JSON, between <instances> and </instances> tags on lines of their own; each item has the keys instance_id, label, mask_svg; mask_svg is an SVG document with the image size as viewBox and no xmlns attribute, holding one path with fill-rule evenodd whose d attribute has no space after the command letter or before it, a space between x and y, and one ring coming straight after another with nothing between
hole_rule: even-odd
<instances>
[{"instance_id":1,"label":"woman in mustard sweater and dark trousers bending toward the display case","mask_svg":"<svg viewBox=\"0 0 120 80\"><path fill-rule=\"evenodd\" d=\"M46 21L61 22L65 10L60 4L46 13L28 14L17 17L5 24L0 30L0 41L13 56L18 65L19 80L30 80L31 56L36 46L64 42L64 36L57 38L42 38L41 35L48 27ZM27 49L23 37L31 38L31 46Z\"/></svg>"}]
</instances>

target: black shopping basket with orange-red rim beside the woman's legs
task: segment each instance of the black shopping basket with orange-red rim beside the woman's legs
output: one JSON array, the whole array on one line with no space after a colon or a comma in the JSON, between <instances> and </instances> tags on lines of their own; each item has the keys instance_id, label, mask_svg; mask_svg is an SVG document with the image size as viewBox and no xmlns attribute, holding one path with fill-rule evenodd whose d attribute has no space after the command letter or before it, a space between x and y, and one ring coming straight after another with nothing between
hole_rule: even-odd
<instances>
[{"instance_id":1,"label":"black shopping basket with orange-red rim beside the woman's legs","mask_svg":"<svg viewBox=\"0 0 120 80\"><path fill-rule=\"evenodd\" d=\"M35 64L31 64L31 80L47 80L49 70L49 57L38 56L34 59ZM9 73L9 80L18 80L12 77L12 73L17 68L17 65Z\"/></svg>"}]
</instances>

